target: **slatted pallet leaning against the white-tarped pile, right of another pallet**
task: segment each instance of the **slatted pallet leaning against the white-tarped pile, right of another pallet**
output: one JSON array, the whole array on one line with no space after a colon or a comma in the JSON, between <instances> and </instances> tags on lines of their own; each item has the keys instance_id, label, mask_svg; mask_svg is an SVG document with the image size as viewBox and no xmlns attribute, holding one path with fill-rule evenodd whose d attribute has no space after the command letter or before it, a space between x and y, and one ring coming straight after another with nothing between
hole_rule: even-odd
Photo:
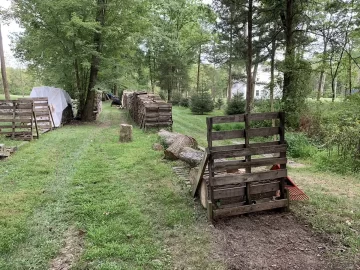
<instances>
[{"instance_id":1,"label":"slatted pallet leaning against the white-tarped pile, right of another pallet","mask_svg":"<svg viewBox=\"0 0 360 270\"><path fill-rule=\"evenodd\" d=\"M46 132L52 130L55 127L54 119L52 116L52 110L51 107L49 106L49 101L47 97L22 98L19 100L33 101L34 114L38 129L41 129L44 132ZM34 121L34 125L35 125L35 121Z\"/></svg>"}]
</instances>

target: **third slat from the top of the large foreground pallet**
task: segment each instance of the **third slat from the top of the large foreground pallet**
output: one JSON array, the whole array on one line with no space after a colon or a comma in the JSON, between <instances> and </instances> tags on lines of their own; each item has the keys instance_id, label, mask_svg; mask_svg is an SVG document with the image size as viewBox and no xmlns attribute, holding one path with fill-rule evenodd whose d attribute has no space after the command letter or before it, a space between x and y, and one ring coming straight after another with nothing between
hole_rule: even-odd
<instances>
[{"instance_id":1,"label":"third slat from the top of the large foreground pallet","mask_svg":"<svg viewBox=\"0 0 360 270\"><path fill-rule=\"evenodd\" d=\"M263 154L280 153L280 152L286 152L286 149L287 149L286 144L263 146L263 147L256 147L256 146L250 145L249 148L212 152L211 154L212 154L213 159L221 159L221 158L243 157L243 156L248 156L248 155L263 155Z\"/></svg>"}]
</instances>

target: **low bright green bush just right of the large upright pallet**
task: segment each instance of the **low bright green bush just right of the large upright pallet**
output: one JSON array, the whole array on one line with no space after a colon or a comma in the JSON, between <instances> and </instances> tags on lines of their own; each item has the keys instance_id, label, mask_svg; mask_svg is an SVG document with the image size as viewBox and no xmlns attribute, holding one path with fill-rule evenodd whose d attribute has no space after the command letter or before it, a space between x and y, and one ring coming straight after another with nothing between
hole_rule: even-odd
<instances>
[{"instance_id":1,"label":"low bright green bush just right of the large upright pallet","mask_svg":"<svg viewBox=\"0 0 360 270\"><path fill-rule=\"evenodd\" d=\"M316 154L317 148L304 133L286 133L288 154L293 158L309 158Z\"/></svg>"}]
</instances>

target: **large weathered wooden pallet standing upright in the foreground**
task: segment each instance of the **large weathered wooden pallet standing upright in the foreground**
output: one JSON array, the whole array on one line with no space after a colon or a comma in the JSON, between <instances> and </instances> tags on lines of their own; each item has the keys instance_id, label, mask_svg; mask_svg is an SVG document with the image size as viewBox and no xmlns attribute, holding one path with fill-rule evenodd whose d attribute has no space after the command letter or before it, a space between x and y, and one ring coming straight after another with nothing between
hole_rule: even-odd
<instances>
[{"instance_id":1,"label":"large weathered wooden pallet standing upright in the foreground","mask_svg":"<svg viewBox=\"0 0 360 270\"><path fill-rule=\"evenodd\" d=\"M272 119L277 119L278 126L251 127L255 121ZM210 220L275 208L288 208L289 196L285 189L287 146L284 120L283 112L207 118L209 176L206 181ZM215 124L234 122L245 123L245 128L214 131ZM251 141L255 137L273 138L274 135L277 135L279 140ZM244 139L245 143L213 146L215 141L238 138ZM273 155L264 158L262 156L264 154ZM280 169L270 170L270 166L275 164L280 164ZM264 169L263 166L269 166L269 169ZM258 167L263 167L263 170L256 170ZM245 169L245 172L239 169Z\"/></svg>"}]
</instances>

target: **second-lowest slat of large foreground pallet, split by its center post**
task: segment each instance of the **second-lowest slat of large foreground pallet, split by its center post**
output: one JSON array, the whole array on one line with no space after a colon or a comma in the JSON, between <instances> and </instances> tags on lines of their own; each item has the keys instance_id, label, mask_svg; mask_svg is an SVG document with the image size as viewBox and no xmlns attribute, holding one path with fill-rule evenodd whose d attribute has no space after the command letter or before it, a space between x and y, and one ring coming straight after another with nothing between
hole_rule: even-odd
<instances>
[{"instance_id":1,"label":"second-lowest slat of large foreground pallet, split by its center post","mask_svg":"<svg viewBox=\"0 0 360 270\"><path fill-rule=\"evenodd\" d=\"M245 188L246 186L216 189L214 190L214 199L219 200L219 199L244 196L246 193ZM274 181L266 184L252 185L250 188L250 194L254 195L259 193L278 191L279 189L280 189L280 182Z\"/></svg>"}]
</instances>

